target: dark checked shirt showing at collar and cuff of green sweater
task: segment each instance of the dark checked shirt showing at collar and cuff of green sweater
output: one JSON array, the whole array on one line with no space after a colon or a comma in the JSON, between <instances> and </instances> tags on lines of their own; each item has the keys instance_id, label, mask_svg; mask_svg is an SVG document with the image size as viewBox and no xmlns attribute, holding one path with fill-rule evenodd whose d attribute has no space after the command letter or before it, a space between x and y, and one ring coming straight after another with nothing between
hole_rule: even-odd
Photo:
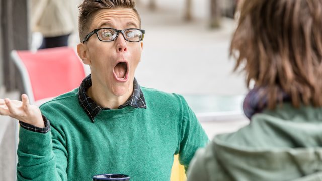
<instances>
[{"instance_id":1,"label":"dark checked shirt showing at collar and cuff of green sweater","mask_svg":"<svg viewBox=\"0 0 322 181\"><path fill-rule=\"evenodd\" d=\"M92 86L92 79L91 75L88 75L81 83L81 86L79 87L78 91L78 101L81 104L82 108L86 112L87 116L90 118L90 120L94 123L95 117L100 113L101 110L106 110L110 108L103 108L99 106L95 101L93 101L92 98L90 98L86 91L88 88ZM133 81L133 93L129 97L129 99L118 107L118 109L122 109L126 106L132 106L134 108L145 108L146 109L146 103L144 99L143 92L141 90L140 85L137 83L136 79L134 78ZM33 126L28 123L24 123L19 121L20 126L33 132L37 133L47 133L50 130L50 122L49 120L43 115L43 119L45 122L45 128L38 128L36 126Z\"/></svg>"}]
</instances>

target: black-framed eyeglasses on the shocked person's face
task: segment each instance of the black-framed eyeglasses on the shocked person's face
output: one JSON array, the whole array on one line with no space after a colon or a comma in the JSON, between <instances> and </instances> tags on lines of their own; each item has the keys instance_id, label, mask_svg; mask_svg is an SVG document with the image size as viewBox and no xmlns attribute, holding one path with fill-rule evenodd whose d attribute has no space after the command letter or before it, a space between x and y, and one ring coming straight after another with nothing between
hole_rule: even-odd
<instances>
[{"instance_id":1,"label":"black-framed eyeglasses on the shocked person's face","mask_svg":"<svg viewBox=\"0 0 322 181\"><path fill-rule=\"evenodd\" d=\"M100 41L114 41L119 36L119 33L122 33L126 41L139 42L143 40L145 31L137 28L129 28L125 30L99 28L87 34L82 43L86 42L93 34L96 34Z\"/></svg>"}]
</instances>

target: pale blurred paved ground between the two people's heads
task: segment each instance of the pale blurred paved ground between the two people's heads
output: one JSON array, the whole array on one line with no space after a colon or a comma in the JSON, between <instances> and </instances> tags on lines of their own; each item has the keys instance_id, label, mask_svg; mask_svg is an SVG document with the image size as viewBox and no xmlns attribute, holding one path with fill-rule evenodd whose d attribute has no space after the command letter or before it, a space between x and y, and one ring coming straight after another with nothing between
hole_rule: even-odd
<instances>
[{"instance_id":1,"label":"pale blurred paved ground between the two people's heads","mask_svg":"<svg viewBox=\"0 0 322 181\"><path fill-rule=\"evenodd\" d=\"M185 22L179 9L166 8L139 7L146 34L138 81L181 94L246 93L243 76L232 73L234 61L228 59L235 22L224 19L221 29L211 30L205 18Z\"/></svg>"}]
</instances>

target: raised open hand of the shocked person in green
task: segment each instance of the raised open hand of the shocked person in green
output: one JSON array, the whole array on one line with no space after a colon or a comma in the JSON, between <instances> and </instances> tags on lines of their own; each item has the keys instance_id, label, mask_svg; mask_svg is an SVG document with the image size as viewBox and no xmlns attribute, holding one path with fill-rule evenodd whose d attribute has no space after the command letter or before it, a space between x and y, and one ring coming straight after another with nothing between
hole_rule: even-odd
<instances>
[{"instance_id":1,"label":"raised open hand of the shocked person in green","mask_svg":"<svg viewBox=\"0 0 322 181\"><path fill-rule=\"evenodd\" d=\"M0 99L0 115L10 116L22 122L44 128L45 124L40 109L29 104L29 98L26 94L21 95L21 100Z\"/></svg>"}]
</instances>

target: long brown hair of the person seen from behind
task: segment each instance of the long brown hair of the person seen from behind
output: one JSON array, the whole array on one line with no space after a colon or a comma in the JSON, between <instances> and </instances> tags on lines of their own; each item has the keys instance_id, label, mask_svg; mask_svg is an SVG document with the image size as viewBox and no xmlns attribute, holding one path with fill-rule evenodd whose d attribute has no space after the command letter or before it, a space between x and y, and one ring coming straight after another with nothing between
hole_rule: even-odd
<instances>
[{"instance_id":1,"label":"long brown hair of the person seen from behind","mask_svg":"<svg viewBox=\"0 0 322 181\"><path fill-rule=\"evenodd\" d=\"M270 109L282 93L294 107L322 106L322 0L245 0L230 55Z\"/></svg>"}]
</instances>

